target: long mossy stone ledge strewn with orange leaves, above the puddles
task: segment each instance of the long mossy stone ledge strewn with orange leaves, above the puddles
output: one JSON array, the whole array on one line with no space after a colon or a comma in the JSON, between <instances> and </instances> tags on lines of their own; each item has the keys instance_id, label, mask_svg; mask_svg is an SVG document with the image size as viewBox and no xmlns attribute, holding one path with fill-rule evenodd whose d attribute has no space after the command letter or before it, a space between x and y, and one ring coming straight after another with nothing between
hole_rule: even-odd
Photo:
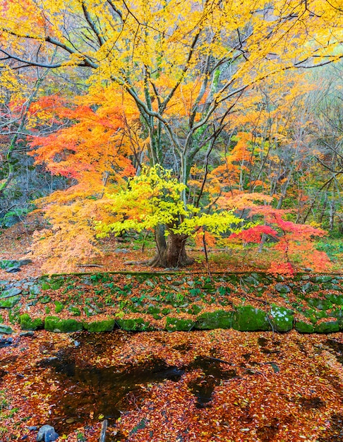
<instances>
[{"instance_id":1,"label":"long mossy stone ledge strewn with orange leaves, above the puddles","mask_svg":"<svg viewBox=\"0 0 343 442\"><path fill-rule=\"evenodd\" d=\"M111 272L21 283L0 287L0 300L11 301L0 312L7 326L18 323L22 330L343 330L341 274Z\"/></svg>"}]
</instances>

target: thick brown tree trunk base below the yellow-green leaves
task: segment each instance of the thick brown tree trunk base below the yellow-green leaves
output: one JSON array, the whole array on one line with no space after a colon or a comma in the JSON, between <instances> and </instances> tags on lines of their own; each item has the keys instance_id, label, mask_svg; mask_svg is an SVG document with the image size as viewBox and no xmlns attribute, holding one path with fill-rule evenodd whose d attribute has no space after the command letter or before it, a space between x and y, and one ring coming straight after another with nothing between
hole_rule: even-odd
<instances>
[{"instance_id":1,"label":"thick brown tree trunk base below the yellow-green leaves","mask_svg":"<svg viewBox=\"0 0 343 442\"><path fill-rule=\"evenodd\" d=\"M155 234L157 254L155 258L152 258L149 265L176 268L193 264L193 258L189 258L186 253L187 238L187 235L169 233L166 239L163 227L158 228Z\"/></svg>"}]
</instances>

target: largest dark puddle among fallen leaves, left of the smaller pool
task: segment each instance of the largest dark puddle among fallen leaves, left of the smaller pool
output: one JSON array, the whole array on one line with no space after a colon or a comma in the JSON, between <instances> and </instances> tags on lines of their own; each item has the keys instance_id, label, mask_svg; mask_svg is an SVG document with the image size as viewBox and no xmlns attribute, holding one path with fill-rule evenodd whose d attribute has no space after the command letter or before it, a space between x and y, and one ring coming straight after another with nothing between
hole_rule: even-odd
<instances>
[{"instance_id":1,"label":"largest dark puddle among fallen leaves, left of the smaller pool","mask_svg":"<svg viewBox=\"0 0 343 442\"><path fill-rule=\"evenodd\" d=\"M50 420L56 431L70 431L100 415L109 422L114 421L121 412L138 405L144 394L140 386L165 380L176 382L184 373L183 369L167 366L160 359L126 370L116 366L80 366L71 353L67 348L56 357L42 359L39 364L52 369L54 381L63 385L63 395L57 393L52 398L56 406Z\"/></svg>"}]
</instances>

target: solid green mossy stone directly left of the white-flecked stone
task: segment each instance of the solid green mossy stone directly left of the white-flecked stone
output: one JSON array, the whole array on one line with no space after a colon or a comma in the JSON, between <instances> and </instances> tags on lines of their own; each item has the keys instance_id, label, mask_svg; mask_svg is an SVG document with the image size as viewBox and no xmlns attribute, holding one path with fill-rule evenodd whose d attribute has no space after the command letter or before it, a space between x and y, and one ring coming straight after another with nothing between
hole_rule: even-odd
<instances>
[{"instance_id":1,"label":"solid green mossy stone directly left of the white-flecked stone","mask_svg":"<svg viewBox=\"0 0 343 442\"><path fill-rule=\"evenodd\" d=\"M267 313L253 306L238 306L232 317L232 328L240 331L272 330Z\"/></svg>"}]
</instances>

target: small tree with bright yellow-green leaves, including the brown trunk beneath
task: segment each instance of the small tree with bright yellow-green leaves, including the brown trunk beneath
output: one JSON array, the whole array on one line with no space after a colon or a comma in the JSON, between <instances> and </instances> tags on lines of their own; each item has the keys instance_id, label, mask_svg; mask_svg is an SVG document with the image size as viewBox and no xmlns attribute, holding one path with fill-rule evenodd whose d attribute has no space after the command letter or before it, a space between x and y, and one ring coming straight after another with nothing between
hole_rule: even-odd
<instances>
[{"instance_id":1,"label":"small tree with bright yellow-green leaves, including the brown trunk beneath","mask_svg":"<svg viewBox=\"0 0 343 442\"><path fill-rule=\"evenodd\" d=\"M182 267L192 263L186 254L185 244L200 228L207 232L223 234L240 232L243 220L233 209L211 213L211 206L200 210L192 204L184 205L181 195L185 184L172 176L172 171L160 165L144 168L143 172L128 182L126 189L107 195L109 210L116 221L97 223L99 237L109 232L119 234L123 230L153 229L157 243L157 255L150 265ZM164 229L161 227L164 226Z\"/></svg>"}]
</instances>

